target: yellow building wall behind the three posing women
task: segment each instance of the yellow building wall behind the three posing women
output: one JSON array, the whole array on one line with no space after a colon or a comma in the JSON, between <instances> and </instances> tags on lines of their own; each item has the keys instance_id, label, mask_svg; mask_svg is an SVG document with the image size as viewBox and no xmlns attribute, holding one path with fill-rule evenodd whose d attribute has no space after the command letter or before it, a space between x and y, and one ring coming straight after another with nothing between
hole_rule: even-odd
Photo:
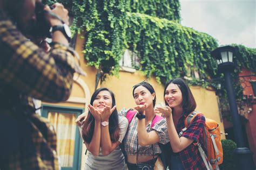
<instances>
[{"instance_id":1,"label":"yellow building wall behind the three posing women","mask_svg":"<svg viewBox=\"0 0 256 170\"><path fill-rule=\"evenodd\" d=\"M76 43L76 51L80 56L80 65L86 72L86 76L79 76L85 84L87 91L89 94L87 95L86 103L75 103L75 102L62 102L62 103L45 103L43 104L51 104L51 105L61 105L65 107L78 107L84 108L86 110L86 104L90 102L91 95L95 90L95 81L96 81L96 74L97 69L95 67L87 66L86 61L84 60L83 51L83 43L84 39L78 38ZM98 87L107 87L113 91L116 97L116 105L117 109L120 110L122 108L132 108L134 107L135 103L132 96L132 87L144 80L146 80L146 76L143 75L141 72L125 72L120 71L119 77L116 76L107 76L105 81L98 85ZM157 83L154 77L149 79L150 83L156 90L156 105L164 106L164 86ZM85 88L85 89L86 89ZM84 95L84 88L82 88L78 83L73 84L71 97L80 97L86 98ZM215 91L207 90L201 87L191 87L191 91L196 99L197 102L197 110L202 112L207 118L214 119L220 124L221 131L224 132L224 125L220 119L219 107L218 107L218 98L215 95ZM89 96L88 96L89 95ZM225 136L222 135L224 139ZM82 162L81 162L81 169L84 169L85 165L85 145L83 144L82 148Z\"/></svg>"}]
</instances>

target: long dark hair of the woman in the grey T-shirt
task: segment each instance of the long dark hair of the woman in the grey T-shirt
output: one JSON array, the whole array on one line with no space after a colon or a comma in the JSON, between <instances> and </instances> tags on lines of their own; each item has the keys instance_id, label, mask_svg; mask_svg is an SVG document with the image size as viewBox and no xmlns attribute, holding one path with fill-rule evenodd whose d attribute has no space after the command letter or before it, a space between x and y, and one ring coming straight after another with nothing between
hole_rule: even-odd
<instances>
[{"instance_id":1,"label":"long dark hair of the woman in the grey T-shirt","mask_svg":"<svg viewBox=\"0 0 256 170\"><path fill-rule=\"evenodd\" d=\"M114 107L114 105L116 105L116 100L114 98L114 94L111 90L109 90L107 88L97 89L92 94L90 104L91 105L93 104L93 101L95 101L95 98L100 93L100 91L109 91L109 93L111 94L111 97L112 97L112 107ZM86 143L91 142L94 128L95 128L95 118L92 116L91 112L89 111L88 115L85 119L85 122L83 125L83 130L82 130L82 138L84 139L84 141L86 141ZM109 133L110 133L110 139L112 142L115 142L119 139L120 129L119 129L119 125L118 125L117 109L114 109L114 111L112 112L112 114L109 117Z\"/></svg>"}]
</instances>

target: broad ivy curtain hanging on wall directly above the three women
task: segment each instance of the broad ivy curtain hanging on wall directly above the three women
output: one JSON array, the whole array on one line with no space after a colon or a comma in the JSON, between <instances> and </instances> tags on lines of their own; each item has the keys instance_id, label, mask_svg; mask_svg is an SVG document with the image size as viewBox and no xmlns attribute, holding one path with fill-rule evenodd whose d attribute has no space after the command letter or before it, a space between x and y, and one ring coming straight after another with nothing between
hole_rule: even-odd
<instances>
[{"instance_id":1,"label":"broad ivy curtain hanging on wall directly above the three women","mask_svg":"<svg viewBox=\"0 0 256 170\"><path fill-rule=\"evenodd\" d=\"M127 42L138 52L147 76L154 74L165 83L181 73L187 75L187 68L194 66L201 77L215 74L217 65L210 52L217 42L211 36L141 13L127 13L127 22Z\"/></svg>"}]
</instances>

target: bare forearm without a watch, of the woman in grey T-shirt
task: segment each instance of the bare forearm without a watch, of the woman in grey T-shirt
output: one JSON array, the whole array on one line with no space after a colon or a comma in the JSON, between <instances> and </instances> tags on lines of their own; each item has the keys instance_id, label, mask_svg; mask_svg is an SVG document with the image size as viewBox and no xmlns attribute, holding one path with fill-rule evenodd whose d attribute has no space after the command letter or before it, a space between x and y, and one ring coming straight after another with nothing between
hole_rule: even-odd
<instances>
[{"instance_id":1,"label":"bare forearm without a watch, of the woman in grey T-shirt","mask_svg":"<svg viewBox=\"0 0 256 170\"><path fill-rule=\"evenodd\" d=\"M93 136L90 144L87 146L87 150L93 155L98 156L100 150L100 122L95 121L95 127L93 131Z\"/></svg>"}]
</instances>

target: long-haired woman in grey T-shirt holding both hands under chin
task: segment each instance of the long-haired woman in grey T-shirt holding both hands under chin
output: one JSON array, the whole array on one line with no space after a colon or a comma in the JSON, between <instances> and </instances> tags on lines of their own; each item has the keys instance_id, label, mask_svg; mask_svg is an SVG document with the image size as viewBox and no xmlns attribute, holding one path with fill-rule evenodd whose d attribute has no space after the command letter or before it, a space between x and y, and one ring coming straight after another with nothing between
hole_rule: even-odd
<instances>
[{"instance_id":1,"label":"long-haired woman in grey T-shirt holding both hands under chin","mask_svg":"<svg viewBox=\"0 0 256 170\"><path fill-rule=\"evenodd\" d=\"M76 120L78 125L82 124L82 138L89 151L85 169L125 169L119 144L125 136L128 121L118 116L114 94L107 88L97 89L88 109L85 120L85 114Z\"/></svg>"}]
</instances>

